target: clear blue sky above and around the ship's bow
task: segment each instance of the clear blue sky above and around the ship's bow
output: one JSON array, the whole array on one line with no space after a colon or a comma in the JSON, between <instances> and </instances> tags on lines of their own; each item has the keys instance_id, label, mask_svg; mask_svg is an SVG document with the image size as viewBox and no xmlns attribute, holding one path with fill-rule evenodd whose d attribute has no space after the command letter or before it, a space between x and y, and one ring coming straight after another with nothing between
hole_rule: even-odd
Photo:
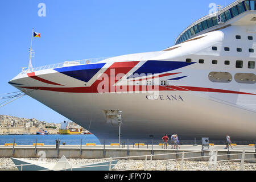
<instances>
[{"instance_id":1,"label":"clear blue sky above and around the ship's bow","mask_svg":"<svg viewBox=\"0 0 256 182\"><path fill-rule=\"evenodd\" d=\"M34 67L93 57L160 51L191 22L207 15L209 4L231 0L8 0L0 1L0 94L17 91L8 84L28 66L32 28ZM46 16L38 16L39 3ZM0 95L2 97L3 95ZM0 100L2 103L3 100ZM65 117L24 96L0 108L0 114L63 122Z\"/></svg>"}]
</instances>

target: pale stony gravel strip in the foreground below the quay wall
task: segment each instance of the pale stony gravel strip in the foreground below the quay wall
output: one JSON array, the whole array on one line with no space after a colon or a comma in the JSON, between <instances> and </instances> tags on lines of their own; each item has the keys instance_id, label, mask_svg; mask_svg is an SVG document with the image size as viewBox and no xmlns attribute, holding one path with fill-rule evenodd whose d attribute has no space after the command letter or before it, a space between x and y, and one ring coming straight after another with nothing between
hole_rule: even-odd
<instances>
[{"instance_id":1,"label":"pale stony gravel strip in the foreground below the quay wall","mask_svg":"<svg viewBox=\"0 0 256 182\"><path fill-rule=\"evenodd\" d=\"M30 159L38 160L38 159ZM46 159L47 163L56 163L59 159ZM73 164L82 164L82 163L94 163L102 162L104 159L68 159L68 161ZM180 160L152 160L147 161L146 169L152 171L176 171L180 170ZM216 171L237 171L240 169L240 162L218 162L213 170ZM119 160L119 162L113 167L114 171L124 171L124 170L144 170L145 162L144 160ZM183 170L189 171L208 171L209 163L205 162L192 162L184 160ZM0 171L16 171L18 170L14 166L14 163L10 158L0 158ZM248 171L256 171L256 163L244 163L244 169Z\"/></svg>"}]
</instances>

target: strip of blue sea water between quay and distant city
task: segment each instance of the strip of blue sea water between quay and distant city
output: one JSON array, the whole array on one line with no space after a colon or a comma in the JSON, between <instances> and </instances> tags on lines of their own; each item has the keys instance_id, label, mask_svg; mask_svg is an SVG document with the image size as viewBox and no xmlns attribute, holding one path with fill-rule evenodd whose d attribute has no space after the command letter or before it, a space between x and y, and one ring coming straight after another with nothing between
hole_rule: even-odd
<instances>
[{"instance_id":1,"label":"strip of blue sea water between quay and distant city","mask_svg":"<svg viewBox=\"0 0 256 182\"><path fill-rule=\"evenodd\" d=\"M15 143L18 145L32 145L33 143L56 144L57 139L60 139L60 144L65 142L68 144L96 143L100 144L100 140L95 135L0 135L0 145L5 143Z\"/></svg>"}]
</instances>

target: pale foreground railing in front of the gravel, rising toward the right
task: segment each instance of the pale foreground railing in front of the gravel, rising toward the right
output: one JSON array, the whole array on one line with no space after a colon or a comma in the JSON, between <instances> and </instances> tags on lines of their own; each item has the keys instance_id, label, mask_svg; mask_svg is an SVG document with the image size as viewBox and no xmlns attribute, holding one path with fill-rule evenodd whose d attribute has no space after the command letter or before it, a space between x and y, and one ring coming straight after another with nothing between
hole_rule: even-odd
<instances>
[{"instance_id":1,"label":"pale foreground railing in front of the gravel, rising toward the right","mask_svg":"<svg viewBox=\"0 0 256 182\"><path fill-rule=\"evenodd\" d=\"M240 148L241 149L241 148ZM243 149L243 148L242 148ZM176 163L173 164L173 166L175 167L176 170L180 170L183 171L184 170L184 166L191 166L191 165L195 165L195 164L207 164L206 167L199 167L199 168L191 168L191 169L187 169L187 170L209 170L209 171L214 171L216 170L216 166L218 163L223 163L223 162L236 162L236 161L240 161L240 163L237 164L227 164L227 165L222 165L219 167L225 167L225 166L240 166L237 170L243 171L245 170L245 166L255 166L256 167L256 163L250 163L250 164L245 164L245 160L256 160L254 159L247 159L245 158L246 155L250 155L250 154L256 154L256 152L251 152L251 153L245 153L245 150L243 150L243 152L241 154L225 154L225 155L218 155L218 151L217 150L208 150L205 152L209 152L210 155L206 155L206 156L196 156L196 157L190 157L190 158L185 158L185 154L191 154L191 153L196 153L196 152L201 152L201 151L192 151L192 152L179 152L177 154L181 154L181 158L176 158L176 159L166 159L166 160L160 160L162 162L166 163L166 169L168 169L167 167L167 162L168 161L180 161L180 163ZM104 166L109 166L109 170L112 170L113 166L118 166L118 165L123 165L123 166L127 166L128 164L131 164L129 162L127 163L117 163L117 164L112 164L112 160L117 160L117 159L123 159L123 160L129 160L130 158L142 158L144 157L144 162L143 161L137 161L134 162L133 161L133 166L135 166L135 164L142 164L141 167L137 167L137 168L129 168L129 169L120 169L119 171L152 171L152 158L154 156L159 156L159 155L176 155L176 153L171 153L171 154L156 154L156 155L140 155L140 156L126 156L126 157L120 157L120 158L103 158L103 159L95 159L95 160L102 160L102 162L106 162L106 161L110 161L109 164L106 165L96 165L96 166L87 166L88 168L92 168L92 167L104 167ZM241 159L228 159L228 160L217 160L218 157L220 156L227 156L227 155L241 155ZM148 160L148 158L150 158L150 160ZM208 162L193 162L191 164L184 164L184 160L190 160L190 159L199 159L199 158L209 158ZM91 159L92 161L94 159ZM66 162L63 162L66 163ZM48 164L48 163L38 163L38 164ZM89 164L89 163L88 163ZM20 171L23 171L23 167L24 166L31 166L31 165L35 165L35 164L21 164L21 165L15 165L15 166L8 166L10 167L20 167ZM73 167L73 160L71 159L71 167L65 167L65 168L59 168L59 169L54 169L55 171L59 171L59 170L73 170L76 168L87 168L86 166L81 166L81 167ZM47 170L42 170L42 171L52 171L52 169L47 169Z\"/></svg>"}]
</instances>

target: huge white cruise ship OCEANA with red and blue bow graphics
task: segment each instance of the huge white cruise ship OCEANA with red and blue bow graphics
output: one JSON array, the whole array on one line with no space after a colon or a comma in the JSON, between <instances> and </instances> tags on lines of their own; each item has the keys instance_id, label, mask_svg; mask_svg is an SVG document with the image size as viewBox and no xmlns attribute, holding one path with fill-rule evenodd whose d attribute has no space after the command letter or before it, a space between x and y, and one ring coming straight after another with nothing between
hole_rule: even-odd
<instances>
[{"instance_id":1,"label":"huge white cruise ship OCEANA with red and blue bow graphics","mask_svg":"<svg viewBox=\"0 0 256 182\"><path fill-rule=\"evenodd\" d=\"M255 140L255 10L238 0L162 51L29 67L9 84L101 141L119 129L123 140Z\"/></svg>"}]
</instances>

